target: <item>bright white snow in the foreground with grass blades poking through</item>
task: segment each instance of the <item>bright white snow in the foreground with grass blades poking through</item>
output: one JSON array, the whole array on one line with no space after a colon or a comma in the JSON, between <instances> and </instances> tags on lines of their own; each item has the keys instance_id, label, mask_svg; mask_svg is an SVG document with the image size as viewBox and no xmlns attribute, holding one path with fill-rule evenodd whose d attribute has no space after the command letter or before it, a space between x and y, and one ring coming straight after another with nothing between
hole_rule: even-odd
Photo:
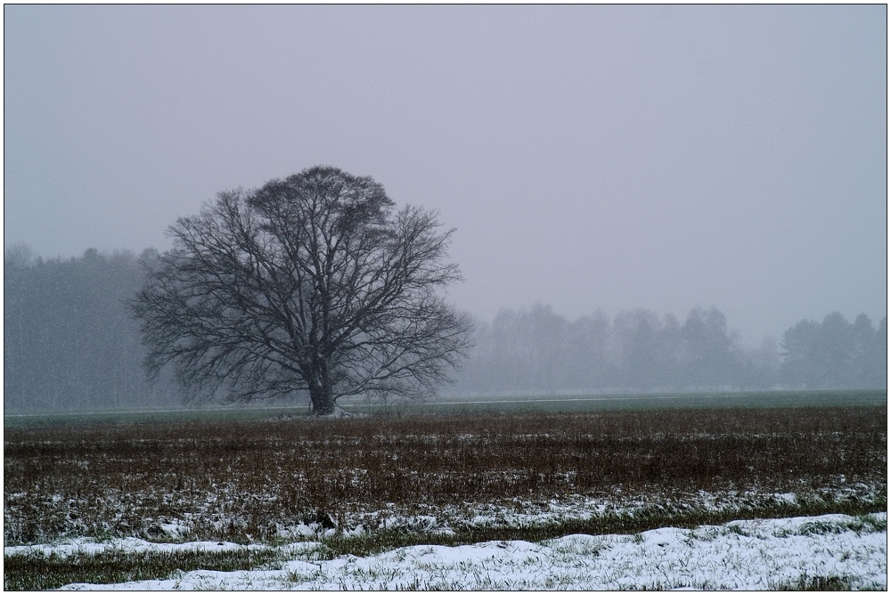
<instances>
[{"instance_id":1,"label":"bright white snow in the foreground with grass blades poking through","mask_svg":"<svg viewBox=\"0 0 891 595\"><path fill-rule=\"evenodd\" d=\"M83 540L29 551L105 549L234 549L233 543L159 544L127 539ZM777 589L834 584L887 589L887 513L733 521L693 530L664 528L636 535L569 535L541 543L484 542L460 547L413 546L367 558L318 560L315 542L282 546L279 570L194 571L166 580L110 585L70 584L69 590L203 589Z\"/></svg>"}]
</instances>

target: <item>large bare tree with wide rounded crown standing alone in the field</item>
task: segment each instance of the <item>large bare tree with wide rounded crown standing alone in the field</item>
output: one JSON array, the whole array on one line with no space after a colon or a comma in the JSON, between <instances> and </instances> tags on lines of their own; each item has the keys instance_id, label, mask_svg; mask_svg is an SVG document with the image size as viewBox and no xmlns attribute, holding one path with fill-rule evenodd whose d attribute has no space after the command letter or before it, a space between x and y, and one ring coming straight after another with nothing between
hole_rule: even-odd
<instances>
[{"instance_id":1,"label":"large bare tree with wide rounded crown standing alone in the field","mask_svg":"<svg viewBox=\"0 0 891 595\"><path fill-rule=\"evenodd\" d=\"M312 167L255 191L220 192L169 228L132 307L151 374L173 363L194 397L309 392L316 415L344 395L430 395L470 342L441 289L454 232L395 213L380 183Z\"/></svg>"}]
</instances>

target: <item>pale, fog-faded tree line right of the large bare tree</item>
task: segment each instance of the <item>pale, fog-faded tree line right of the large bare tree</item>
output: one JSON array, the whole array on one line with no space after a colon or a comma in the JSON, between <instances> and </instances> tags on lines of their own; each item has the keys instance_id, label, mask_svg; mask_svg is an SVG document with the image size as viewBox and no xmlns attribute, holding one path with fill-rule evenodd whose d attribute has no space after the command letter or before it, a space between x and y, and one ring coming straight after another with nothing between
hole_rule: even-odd
<instances>
[{"instance_id":1,"label":"pale, fog-faded tree line right of the large bare tree","mask_svg":"<svg viewBox=\"0 0 891 595\"><path fill-rule=\"evenodd\" d=\"M886 386L887 317L875 329L866 314L802 321L780 345L765 338L756 348L742 346L714 307L695 307L683 322L646 309L569 321L535 305L476 328L458 393Z\"/></svg>"}]
</instances>

